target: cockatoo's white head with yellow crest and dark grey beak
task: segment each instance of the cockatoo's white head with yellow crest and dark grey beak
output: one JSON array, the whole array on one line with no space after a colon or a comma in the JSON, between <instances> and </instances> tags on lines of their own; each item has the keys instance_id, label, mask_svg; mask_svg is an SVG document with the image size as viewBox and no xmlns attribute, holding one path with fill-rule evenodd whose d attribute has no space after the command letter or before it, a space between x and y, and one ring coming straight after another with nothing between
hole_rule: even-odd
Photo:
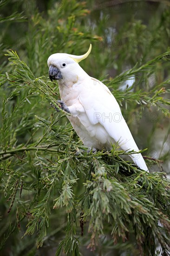
<instances>
[{"instance_id":1,"label":"cockatoo's white head with yellow crest and dark grey beak","mask_svg":"<svg viewBox=\"0 0 170 256\"><path fill-rule=\"evenodd\" d=\"M60 82L78 81L78 78L83 78L87 75L85 71L78 65L78 62L87 58L92 49L90 45L86 54L76 56L72 54L52 54L47 61L49 67L49 77L52 80Z\"/></svg>"}]
</instances>

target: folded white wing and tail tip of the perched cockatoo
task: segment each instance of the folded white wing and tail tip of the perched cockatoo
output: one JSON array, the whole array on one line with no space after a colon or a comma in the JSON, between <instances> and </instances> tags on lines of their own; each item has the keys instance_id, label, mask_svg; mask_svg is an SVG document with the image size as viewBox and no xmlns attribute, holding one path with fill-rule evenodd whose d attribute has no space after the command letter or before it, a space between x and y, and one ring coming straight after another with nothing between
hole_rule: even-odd
<instances>
[{"instance_id":1,"label":"folded white wing and tail tip of the perched cockatoo","mask_svg":"<svg viewBox=\"0 0 170 256\"><path fill-rule=\"evenodd\" d=\"M90 78L88 85L80 93L79 101L85 108L89 121L93 125L100 123L123 150L139 150L118 102L102 82ZM141 154L131 155L131 158L140 168L148 170Z\"/></svg>"}]
</instances>

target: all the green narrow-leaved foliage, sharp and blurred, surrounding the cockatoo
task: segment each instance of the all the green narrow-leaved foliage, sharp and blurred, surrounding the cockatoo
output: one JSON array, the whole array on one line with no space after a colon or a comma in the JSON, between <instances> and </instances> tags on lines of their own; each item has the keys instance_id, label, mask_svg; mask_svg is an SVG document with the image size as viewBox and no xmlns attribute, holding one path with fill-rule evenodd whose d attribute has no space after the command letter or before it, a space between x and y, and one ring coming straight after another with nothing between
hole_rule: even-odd
<instances>
[{"instance_id":1,"label":"all the green narrow-leaved foliage, sharp and blurred, surrounding the cockatoo","mask_svg":"<svg viewBox=\"0 0 170 256\"><path fill-rule=\"evenodd\" d=\"M168 2L154 5L147 26L133 15L119 25L114 18L108 23L118 9L108 11L99 1L49 1L43 13L25 3L22 13L22 3L14 2L13 13L1 20L27 26L17 32L19 39L9 33L13 25L2 26L2 254L168 255ZM9 1L0 4L6 14ZM131 7L124 8L133 14ZM140 10L145 7L141 3ZM110 88L150 173L117 144L110 152L88 152L66 113L50 106L57 107L59 88L48 78L47 58L84 54L90 43L92 54L80 64Z\"/></svg>"}]
</instances>

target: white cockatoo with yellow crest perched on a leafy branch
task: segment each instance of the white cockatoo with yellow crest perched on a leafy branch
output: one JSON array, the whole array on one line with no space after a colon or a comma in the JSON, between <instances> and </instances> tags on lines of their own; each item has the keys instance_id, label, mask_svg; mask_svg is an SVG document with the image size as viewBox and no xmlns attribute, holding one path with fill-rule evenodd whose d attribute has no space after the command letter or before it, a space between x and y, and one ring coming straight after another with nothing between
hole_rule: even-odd
<instances>
[{"instance_id":1,"label":"white cockatoo with yellow crest perched on a leafy branch","mask_svg":"<svg viewBox=\"0 0 170 256\"><path fill-rule=\"evenodd\" d=\"M84 55L52 54L48 58L49 77L58 80L61 101L74 130L84 145L93 150L111 150L118 143L124 151L139 151L110 90L101 81L89 76L78 64ZM148 168L141 154L130 155L137 166Z\"/></svg>"}]
</instances>

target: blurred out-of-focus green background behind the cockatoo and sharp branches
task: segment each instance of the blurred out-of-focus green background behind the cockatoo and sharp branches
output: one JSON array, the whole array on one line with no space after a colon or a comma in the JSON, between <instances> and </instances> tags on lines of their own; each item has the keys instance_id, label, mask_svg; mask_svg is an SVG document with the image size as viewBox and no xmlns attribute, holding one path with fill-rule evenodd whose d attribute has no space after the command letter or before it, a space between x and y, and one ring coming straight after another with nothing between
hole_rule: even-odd
<instances>
[{"instance_id":1,"label":"blurred out-of-focus green background behind the cockatoo and sharp branches","mask_svg":"<svg viewBox=\"0 0 170 256\"><path fill-rule=\"evenodd\" d=\"M167 51L170 43L170 2L163 1L117 1L117 0L2 0L1 5L1 35L0 35L0 65L1 73L11 73L13 66L7 60L7 49L16 51L22 61L25 61L35 77L45 76L48 79L47 59L53 53L65 52L69 54L84 54L90 43L92 52L80 63L80 66L92 77L102 81L111 79L118 74L142 65ZM169 77L169 63L157 63L154 73L137 81L135 91L142 89L149 91ZM145 75L145 74L144 74ZM122 81L117 88L126 90L131 80ZM3 79L1 80L3 82ZM163 87L163 86L162 86ZM58 87L54 87L59 93ZM4 94L9 95L11 88L7 84L1 87L1 104ZM21 90L20 96L23 96ZM165 99L168 94L164 94ZM30 102L31 101L31 102ZM119 102L120 103L120 102ZM7 105L7 112L12 112L15 105L20 105L18 96L13 97ZM168 173L169 162L169 121L156 107L136 107L134 102L121 101L122 111L139 148L148 148L144 153L152 158L163 161L162 168ZM2 109L2 106L1 106ZM10 140L15 145L26 144L32 140L33 129L36 130L34 140L43 134L43 127L36 117L50 118L52 109L49 101L41 94L31 100L25 100L18 108L18 114L11 120L13 126ZM24 117L26 117L24 119ZM22 119L22 122L21 122ZM66 118L60 123L65 125ZM69 125L69 124L68 124ZM70 127L71 129L71 127ZM76 138L76 135L74 135ZM77 139L75 139L77 140ZM7 142L7 141L6 141ZM1 140L3 148L4 140ZM12 143L12 142L11 142ZM7 163L6 163L7 164ZM148 162L150 166L150 162ZM19 166L18 166L19 168ZM151 170L160 170L155 164ZM32 177L31 169L26 174ZM29 183L30 182L30 183ZM28 184L35 182L33 177ZM7 215L7 198L4 198L4 187L1 190L0 216L5 217L1 224L0 236L4 237L9 229L9 222L13 223L16 216ZM27 190L25 190L27 193ZM24 194L24 191L23 191ZM10 195L10 192L9 192ZM32 195L24 195L30 200ZM25 224L21 231L15 230L7 239L1 255L55 255L56 247L63 236L65 216L58 209L50 216L50 228L44 245L36 249L35 235L23 236ZM81 238L80 251L84 256L90 255L131 255L131 243L110 246L99 245L97 252L87 249L89 237ZM104 241L105 244L105 241ZM64 255L64 254L63 254Z\"/></svg>"}]
</instances>

